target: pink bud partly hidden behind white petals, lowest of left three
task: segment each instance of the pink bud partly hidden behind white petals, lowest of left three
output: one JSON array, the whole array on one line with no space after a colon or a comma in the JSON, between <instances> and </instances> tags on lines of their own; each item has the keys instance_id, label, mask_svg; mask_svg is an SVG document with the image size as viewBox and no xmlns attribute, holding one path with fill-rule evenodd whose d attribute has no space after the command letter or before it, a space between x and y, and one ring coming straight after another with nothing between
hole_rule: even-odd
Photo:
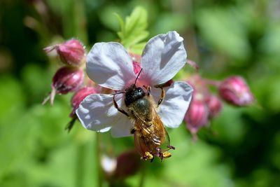
<instances>
[{"instance_id":1,"label":"pink bud partly hidden behind white petals, lowest of left three","mask_svg":"<svg viewBox=\"0 0 280 187\"><path fill-rule=\"evenodd\" d=\"M97 90L93 87L84 87L80 88L75 92L71 99L71 105L72 105L72 111L70 113L70 117L73 118L76 115L76 109L78 109L78 106L80 105L80 102L87 97L87 95L92 95L94 93L97 93Z\"/></svg>"}]
</instances>

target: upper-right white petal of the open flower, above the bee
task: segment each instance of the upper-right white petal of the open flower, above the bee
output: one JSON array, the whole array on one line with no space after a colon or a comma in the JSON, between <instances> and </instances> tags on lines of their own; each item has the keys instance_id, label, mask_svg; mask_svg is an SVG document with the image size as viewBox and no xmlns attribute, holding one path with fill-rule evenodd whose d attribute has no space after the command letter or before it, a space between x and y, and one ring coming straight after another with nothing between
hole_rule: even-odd
<instances>
[{"instance_id":1,"label":"upper-right white petal of the open flower, above the bee","mask_svg":"<svg viewBox=\"0 0 280 187\"><path fill-rule=\"evenodd\" d=\"M141 81L158 85L172 79L186 64L183 38L177 32L160 34L148 41L141 58Z\"/></svg>"}]
</instances>

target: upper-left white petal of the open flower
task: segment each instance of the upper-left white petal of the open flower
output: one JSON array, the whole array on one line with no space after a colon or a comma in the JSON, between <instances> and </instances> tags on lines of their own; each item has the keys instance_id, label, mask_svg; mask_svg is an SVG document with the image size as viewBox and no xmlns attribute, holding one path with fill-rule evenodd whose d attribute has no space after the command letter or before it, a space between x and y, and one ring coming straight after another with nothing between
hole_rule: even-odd
<instances>
[{"instance_id":1,"label":"upper-left white petal of the open flower","mask_svg":"<svg viewBox=\"0 0 280 187\"><path fill-rule=\"evenodd\" d=\"M130 55L116 42L94 44L87 55L87 75L113 90L123 90L135 80Z\"/></svg>"}]
</instances>

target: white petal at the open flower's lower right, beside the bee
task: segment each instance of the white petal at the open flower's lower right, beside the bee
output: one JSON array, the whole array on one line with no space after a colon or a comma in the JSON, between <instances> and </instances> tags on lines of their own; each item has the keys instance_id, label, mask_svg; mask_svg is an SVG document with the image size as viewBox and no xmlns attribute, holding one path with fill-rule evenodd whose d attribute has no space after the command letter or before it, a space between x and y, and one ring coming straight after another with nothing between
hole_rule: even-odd
<instances>
[{"instance_id":1,"label":"white petal at the open flower's lower right, beside the bee","mask_svg":"<svg viewBox=\"0 0 280 187\"><path fill-rule=\"evenodd\" d=\"M164 88L166 89L166 88ZM153 89L153 97L158 102L160 89ZM181 125L192 98L193 88L185 82L174 82L166 89L165 99L160 104L158 114L162 123L171 128Z\"/></svg>"}]
</instances>

